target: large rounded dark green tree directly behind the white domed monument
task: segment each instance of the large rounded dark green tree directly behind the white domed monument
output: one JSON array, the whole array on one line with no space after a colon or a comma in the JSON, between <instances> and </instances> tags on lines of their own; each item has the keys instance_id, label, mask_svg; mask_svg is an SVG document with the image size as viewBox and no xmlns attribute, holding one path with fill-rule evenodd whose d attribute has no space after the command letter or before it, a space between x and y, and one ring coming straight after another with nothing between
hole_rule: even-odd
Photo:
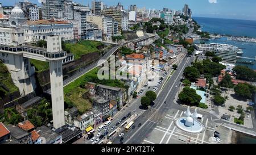
<instances>
[{"instance_id":1,"label":"large rounded dark green tree directly behind the white domed monument","mask_svg":"<svg viewBox=\"0 0 256 155\"><path fill-rule=\"evenodd\" d=\"M179 94L179 100L182 103L189 104L191 106L198 106L201 99L201 96L196 94L196 90L189 87L184 87Z\"/></svg>"}]
</instances>

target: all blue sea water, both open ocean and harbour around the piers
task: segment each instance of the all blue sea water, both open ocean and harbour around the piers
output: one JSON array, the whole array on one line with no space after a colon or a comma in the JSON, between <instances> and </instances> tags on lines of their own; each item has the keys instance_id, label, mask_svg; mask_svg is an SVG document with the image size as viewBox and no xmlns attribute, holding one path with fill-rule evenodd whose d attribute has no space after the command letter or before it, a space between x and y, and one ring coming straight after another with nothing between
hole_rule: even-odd
<instances>
[{"instance_id":1,"label":"all blue sea water, both open ocean and harbour around the piers","mask_svg":"<svg viewBox=\"0 0 256 155\"><path fill-rule=\"evenodd\" d=\"M256 21L252 20L236 20L236 19L216 19L216 18L194 18L197 23L202 25L202 30L210 33L229 34L234 36L250 36L256 37ZM225 21L226 20L226 21ZM243 31L241 31L243 30ZM242 57L255 58L256 57L256 43L247 43L240 41L228 40L227 37L221 37L220 39L210 39L204 41L206 44L209 43L222 43L235 45L241 48L243 51ZM243 60L247 60L242 58ZM251 60L250 60L251 61ZM256 63L251 64L240 64L246 65L251 69L256 69Z\"/></svg>"}]
</instances>

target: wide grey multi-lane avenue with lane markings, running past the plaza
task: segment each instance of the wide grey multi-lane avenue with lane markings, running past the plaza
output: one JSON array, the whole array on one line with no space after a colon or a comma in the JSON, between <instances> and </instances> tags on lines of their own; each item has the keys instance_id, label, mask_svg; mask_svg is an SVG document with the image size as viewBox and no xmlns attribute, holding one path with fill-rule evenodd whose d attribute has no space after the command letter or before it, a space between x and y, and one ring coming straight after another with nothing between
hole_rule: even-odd
<instances>
[{"instance_id":1,"label":"wide grey multi-lane avenue with lane markings, running past the plaza","mask_svg":"<svg viewBox=\"0 0 256 155\"><path fill-rule=\"evenodd\" d=\"M142 126L137 127L134 130L131 129L125 134L125 143L141 143L147 134L155 128L156 124L161 121L164 114L166 114L170 108L183 108L174 103L174 97L180 85L180 77L183 74L183 70L186 66L191 64L191 61L192 57L185 57L184 60L181 61L179 69L174 72L171 78L167 81L166 86L164 86L163 90L158 95L158 98L155 100L155 106L152 106L135 120L136 126L138 126L139 123L142 123ZM164 101L167 101L167 104L164 104ZM113 143L119 143L119 139L115 139Z\"/></svg>"}]
</instances>

